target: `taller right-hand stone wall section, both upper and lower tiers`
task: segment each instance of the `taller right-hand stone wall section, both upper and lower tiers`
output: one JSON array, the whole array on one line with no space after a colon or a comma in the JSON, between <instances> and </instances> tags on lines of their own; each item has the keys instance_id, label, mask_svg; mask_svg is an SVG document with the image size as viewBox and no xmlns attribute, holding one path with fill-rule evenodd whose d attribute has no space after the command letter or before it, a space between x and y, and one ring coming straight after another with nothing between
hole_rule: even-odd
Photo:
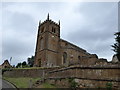
<instances>
[{"instance_id":1,"label":"taller right-hand stone wall section, both upper and lower tiers","mask_svg":"<svg viewBox=\"0 0 120 90\"><path fill-rule=\"evenodd\" d=\"M74 78L79 87L106 87L107 83L111 83L112 87L120 88L120 66L73 66L62 68L49 72L46 82L56 84L59 87L69 87L67 79L70 78Z\"/></svg>"}]
</instances>

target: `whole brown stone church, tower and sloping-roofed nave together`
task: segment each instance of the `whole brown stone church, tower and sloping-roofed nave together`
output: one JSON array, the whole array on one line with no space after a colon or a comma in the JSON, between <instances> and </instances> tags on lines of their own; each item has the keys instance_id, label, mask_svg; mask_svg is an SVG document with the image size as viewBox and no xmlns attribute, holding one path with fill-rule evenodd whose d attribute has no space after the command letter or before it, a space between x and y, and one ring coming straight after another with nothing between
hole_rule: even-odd
<instances>
[{"instance_id":1,"label":"whole brown stone church, tower and sloping-roofed nave together","mask_svg":"<svg viewBox=\"0 0 120 90\"><path fill-rule=\"evenodd\" d=\"M96 54L60 38L60 21L49 19L39 22L34 66L54 67L75 64L90 65L98 61Z\"/></svg>"}]
</instances>

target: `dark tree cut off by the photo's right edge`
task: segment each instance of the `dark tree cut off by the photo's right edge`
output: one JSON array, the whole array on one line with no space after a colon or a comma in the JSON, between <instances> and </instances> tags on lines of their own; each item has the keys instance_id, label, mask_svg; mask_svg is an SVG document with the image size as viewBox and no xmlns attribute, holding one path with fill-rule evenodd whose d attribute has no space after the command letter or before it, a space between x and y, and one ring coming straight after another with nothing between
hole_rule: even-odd
<instances>
[{"instance_id":1,"label":"dark tree cut off by the photo's right edge","mask_svg":"<svg viewBox=\"0 0 120 90\"><path fill-rule=\"evenodd\" d=\"M114 43L112 47L114 48L113 51L115 52L118 60L120 61L120 32L116 32L114 35L116 43Z\"/></svg>"}]
</instances>

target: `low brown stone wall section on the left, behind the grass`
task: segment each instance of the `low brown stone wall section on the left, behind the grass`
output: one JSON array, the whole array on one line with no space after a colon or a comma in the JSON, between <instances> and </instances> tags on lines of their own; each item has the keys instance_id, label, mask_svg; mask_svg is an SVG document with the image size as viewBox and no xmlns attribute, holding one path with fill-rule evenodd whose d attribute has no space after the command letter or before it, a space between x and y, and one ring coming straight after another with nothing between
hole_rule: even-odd
<instances>
[{"instance_id":1,"label":"low brown stone wall section on the left, behind the grass","mask_svg":"<svg viewBox=\"0 0 120 90\"><path fill-rule=\"evenodd\" d=\"M46 68L46 69L11 69L3 73L6 77L43 77L47 72L54 70L56 68Z\"/></svg>"}]
</instances>

